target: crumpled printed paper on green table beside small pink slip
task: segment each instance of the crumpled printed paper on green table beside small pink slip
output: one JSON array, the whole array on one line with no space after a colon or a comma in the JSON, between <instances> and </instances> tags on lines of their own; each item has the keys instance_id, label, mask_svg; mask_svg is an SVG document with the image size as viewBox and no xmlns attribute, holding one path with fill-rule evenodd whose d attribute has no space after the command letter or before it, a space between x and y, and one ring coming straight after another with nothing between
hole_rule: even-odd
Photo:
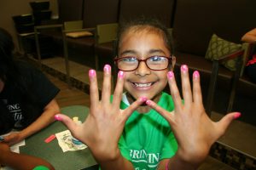
<instances>
[{"instance_id":1,"label":"crumpled printed paper on green table beside small pink slip","mask_svg":"<svg viewBox=\"0 0 256 170\"><path fill-rule=\"evenodd\" d=\"M87 148L85 144L74 144L73 136L69 130L62 131L61 133L55 133L56 139L63 152L74 151L74 150L84 150Z\"/></svg>"}]
</instances>

